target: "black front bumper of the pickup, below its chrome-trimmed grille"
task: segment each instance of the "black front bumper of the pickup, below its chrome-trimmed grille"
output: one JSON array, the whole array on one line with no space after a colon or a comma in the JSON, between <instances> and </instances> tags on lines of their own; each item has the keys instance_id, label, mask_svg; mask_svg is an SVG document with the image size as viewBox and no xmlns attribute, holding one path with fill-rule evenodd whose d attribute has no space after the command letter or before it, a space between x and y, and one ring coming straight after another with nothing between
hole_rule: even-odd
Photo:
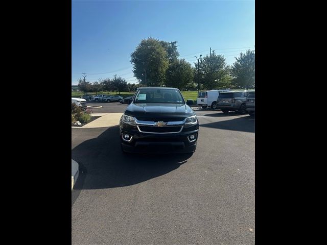
<instances>
[{"instance_id":1,"label":"black front bumper of the pickup, below its chrome-trimmed grille","mask_svg":"<svg viewBox=\"0 0 327 245\"><path fill-rule=\"evenodd\" d=\"M180 133L154 134L141 133L136 127L121 122L120 138L125 152L138 153L192 153L196 149L199 125L184 128ZM132 136L130 142L123 139L124 134ZM190 135L195 140L190 142Z\"/></svg>"}]
</instances>

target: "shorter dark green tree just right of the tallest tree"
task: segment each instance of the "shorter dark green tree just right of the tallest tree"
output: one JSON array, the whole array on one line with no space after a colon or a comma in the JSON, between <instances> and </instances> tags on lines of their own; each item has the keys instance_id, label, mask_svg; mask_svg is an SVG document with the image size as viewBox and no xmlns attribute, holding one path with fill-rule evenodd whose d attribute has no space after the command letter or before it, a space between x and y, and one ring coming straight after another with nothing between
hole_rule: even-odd
<instances>
[{"instance_id":1,"label":"shorter dark green tree just right of the tallest tree","mask_svg":"<svg viewBox=\"0 0 327 245\"><path fill-rule=\"evenodd\" d=\"M166 86L184 90L193 82L193 69L184 59L172 61L166 72Z\"/></svg>"}]
</instances>

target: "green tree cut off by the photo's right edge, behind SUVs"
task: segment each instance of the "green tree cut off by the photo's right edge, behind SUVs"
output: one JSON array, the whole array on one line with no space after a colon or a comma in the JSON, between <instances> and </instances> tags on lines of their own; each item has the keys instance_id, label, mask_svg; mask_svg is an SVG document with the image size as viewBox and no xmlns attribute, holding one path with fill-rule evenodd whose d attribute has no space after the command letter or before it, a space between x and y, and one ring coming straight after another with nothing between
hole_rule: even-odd
<instances>
[{"instance_id":1,"label":"green tree cut off by the photo's right edge, behind SUVs","mask_svg":"<svg viewBox=\"0 0 327 245\"><path fill-rule=\"evenodd\" d=\"M231 67L233 77L232 84L236 88L254 88L255 87L255 53L246 51L236 57L236 62Z\"/></svg>"}]
</instances>

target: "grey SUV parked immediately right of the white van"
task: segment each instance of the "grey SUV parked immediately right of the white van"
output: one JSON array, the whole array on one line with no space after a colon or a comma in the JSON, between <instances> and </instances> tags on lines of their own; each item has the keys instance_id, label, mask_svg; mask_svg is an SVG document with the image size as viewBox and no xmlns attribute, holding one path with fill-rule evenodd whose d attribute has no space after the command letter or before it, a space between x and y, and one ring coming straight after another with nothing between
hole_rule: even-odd
<instances>
[{"instance_id":1,"label":"grey SUV parked immediately right of the white van","mask_svg":"<svg viewBox=\"0 0 327 245\"><path fill-rule=\"evenodd\" d=\"M228 113L228 111L239 111L245 114L246 96L249 92L250 91L220 93L217 100L217 109L222 110L223 113Z\"/></svg>"}]
</instances>

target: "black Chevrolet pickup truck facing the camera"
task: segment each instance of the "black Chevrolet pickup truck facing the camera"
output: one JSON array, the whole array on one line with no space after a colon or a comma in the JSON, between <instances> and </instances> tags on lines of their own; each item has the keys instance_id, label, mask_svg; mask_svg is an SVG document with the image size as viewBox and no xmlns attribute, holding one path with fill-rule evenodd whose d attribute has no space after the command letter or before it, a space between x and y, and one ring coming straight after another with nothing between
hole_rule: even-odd
<instances>
[{"instance_id":1,"label":"black Chevrolet pickup truck facing the camera","mask_svg":"<svg viewBox=\"0 0 327 245\"><path fill-rule=\"evenodd\" d=\"M123 153L193 153L199 121L177 88L138 88L120 119Z\"/></svg>"}]
</instances>

